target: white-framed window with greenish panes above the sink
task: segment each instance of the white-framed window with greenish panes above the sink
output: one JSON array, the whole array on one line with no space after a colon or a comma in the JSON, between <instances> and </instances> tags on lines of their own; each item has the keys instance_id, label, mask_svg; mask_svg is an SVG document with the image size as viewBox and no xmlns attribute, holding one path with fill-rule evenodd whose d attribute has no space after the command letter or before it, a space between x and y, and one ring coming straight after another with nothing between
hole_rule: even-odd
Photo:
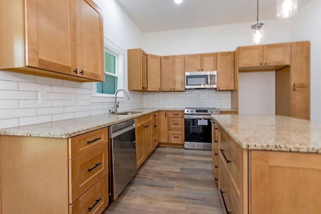
<instances>
[{"instance_id":1,"label":"white-framed window with greenish panes above the sink","mask_svg":"<svg viewBox=\"0 0 321 214\"><path fill-rule=\"evenodd\" d=\"M118 56L108 49L104 50L105 81L97 83L97 93L115 94L118 85Z\"/></svg>"}]
</instances>

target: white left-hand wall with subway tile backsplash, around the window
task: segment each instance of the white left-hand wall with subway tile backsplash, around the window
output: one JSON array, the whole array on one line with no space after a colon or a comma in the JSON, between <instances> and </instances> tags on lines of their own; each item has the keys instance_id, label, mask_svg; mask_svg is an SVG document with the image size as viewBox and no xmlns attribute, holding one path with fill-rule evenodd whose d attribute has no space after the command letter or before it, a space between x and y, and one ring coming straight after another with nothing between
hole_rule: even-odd
<instances>
[{"instance_id":1,"label":"white left-hand wall with subway tile backsplash, around the window","mask_svg":"<svg viewBox=\"0 0 321 214\"><path fill-rule=\"evenodd\" d=\"M139 47L141 33L116 0L95 2L103 10L104 36L125 53L128 48ZM126 54L123 70L123 85L127 88ZM38 91L46 92L46 103L39 103ZM0 128L103 114L114 108L113 97L97 99L91 94L91 83L0 71ZM142 93L130 92L129 96L129 101L118 99L120 111L142 107Z\"/></svg>"}]
</instances>

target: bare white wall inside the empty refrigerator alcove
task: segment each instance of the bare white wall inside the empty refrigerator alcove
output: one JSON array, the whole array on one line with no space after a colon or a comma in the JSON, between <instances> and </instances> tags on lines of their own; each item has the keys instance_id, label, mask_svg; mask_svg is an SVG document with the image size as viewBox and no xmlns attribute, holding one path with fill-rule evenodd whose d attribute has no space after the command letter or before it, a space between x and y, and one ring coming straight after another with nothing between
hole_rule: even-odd
<instances>
[{"instance_id":1,"label":"bare white wall inside the empty refrigerator alcove","mask_svg":"<svg viewBox=\"0 0 321 214\"><path fill-rule=\"evenodd\" d=\"M275 72L239 73L239 114L275 114Z\"/></svg>"}]
</instances>

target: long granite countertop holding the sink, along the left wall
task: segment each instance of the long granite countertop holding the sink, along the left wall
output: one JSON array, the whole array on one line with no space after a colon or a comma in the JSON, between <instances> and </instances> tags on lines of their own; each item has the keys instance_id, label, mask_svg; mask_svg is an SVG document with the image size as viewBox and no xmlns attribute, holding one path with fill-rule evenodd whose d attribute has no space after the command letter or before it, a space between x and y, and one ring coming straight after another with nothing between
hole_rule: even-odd
<instances>
[{"instance_id":1,"label":"long granite countertop holding the sink, along the left wall","mask_svg":"<svg viewBox=\"0 0 321 214\"><path fill-rule=\"evenodd\" d=\"M116 123L124 122L126 120L134 119L136 117L140 117L156 111L184 111L184 109L142 108L126 111L141 111L141 113L133 115L99 114L68 120L59 120L54 122L6 128L0 129L0 135L68 138L96 129L104 128Z\"/></svg>"}]
</instances>

